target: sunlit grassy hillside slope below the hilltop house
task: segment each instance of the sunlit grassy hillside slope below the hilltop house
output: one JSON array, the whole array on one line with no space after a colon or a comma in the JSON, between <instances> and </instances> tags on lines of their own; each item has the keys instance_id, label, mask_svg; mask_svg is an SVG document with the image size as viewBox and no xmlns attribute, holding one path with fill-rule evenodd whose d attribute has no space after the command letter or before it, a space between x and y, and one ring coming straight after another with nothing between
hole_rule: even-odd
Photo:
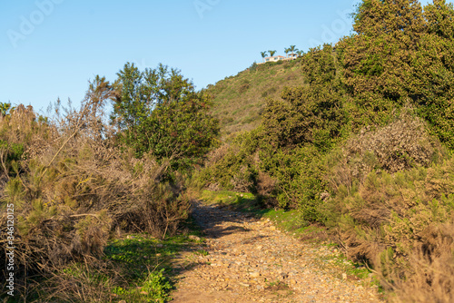
<instances>
[{"instance_id":1,"label":"sunlit grassy hillside slope below the hilltop house","mask_svg":"<svg viewBox=\"0 0 454 303\"><path fill-rule=\"evenodd\" d=\"M220 120L222 138L251 131L261 122L267 98L279 98L284 86L303 83L301 58L290 62L252 64L234 76L209 85L214 96L212 114Z\"/></svg>"}]
</instances>

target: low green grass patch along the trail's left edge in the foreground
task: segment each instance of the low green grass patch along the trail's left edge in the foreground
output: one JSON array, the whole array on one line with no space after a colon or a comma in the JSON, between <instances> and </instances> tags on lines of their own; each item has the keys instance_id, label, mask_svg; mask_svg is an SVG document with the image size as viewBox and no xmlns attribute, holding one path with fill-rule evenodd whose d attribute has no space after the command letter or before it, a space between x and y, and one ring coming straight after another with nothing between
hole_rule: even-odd
<instances>
[{"instance_id":1,"label":"low green grass patch along the trail's left edge in the foreground","mask_svg":"<svg viewBox=\"0 0 454 303\"><path fill-rule=\"evenodd\" d=\"M115 298L133 302L166 302L173 289L172 259L182 250L191 250L202 239L180 235L155 239L132 234L114 239L104 249L104 259L114 263L123 284L112 288ZM101 278L98 278L101 279Z\"/></svg>"}]
</instances>

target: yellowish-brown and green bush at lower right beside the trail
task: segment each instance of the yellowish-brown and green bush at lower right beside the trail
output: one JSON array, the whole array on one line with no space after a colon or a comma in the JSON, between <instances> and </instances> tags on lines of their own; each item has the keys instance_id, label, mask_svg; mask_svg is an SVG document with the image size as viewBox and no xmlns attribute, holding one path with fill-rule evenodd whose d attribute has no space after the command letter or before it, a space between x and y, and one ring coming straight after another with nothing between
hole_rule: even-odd
<instances>
[{"instance_id":1,"label":"yellowish-brown and green bush at lower right beside the trail","mask_svg":"<svg viewBox=\"0 0 454 303\"><path fill-rule=\"evenodd\" d=\"M422 282L423 273L415 266L419 261L428 266L424 272L436 279L436 284L443 283L433 271L437 267L431 265L437 266L440 258L448 261L443 248L451 243L445 227L452 224L454 196L445 193L454 190L452 167L450 159L394 174L372 171L362 183L337 189L327 204L327 224L338 230L351 258L380 269L387 287L406 293L400 279ZM452 256L454 250L449 249ZM418 261L417 256L421 258ZM450 259L448 268L452 264ZM432 288L428 281L419 288ZM451 283L450 279L446 283ZM433 287L441 287L437 285Z\"/></svg>"}]
</instances>

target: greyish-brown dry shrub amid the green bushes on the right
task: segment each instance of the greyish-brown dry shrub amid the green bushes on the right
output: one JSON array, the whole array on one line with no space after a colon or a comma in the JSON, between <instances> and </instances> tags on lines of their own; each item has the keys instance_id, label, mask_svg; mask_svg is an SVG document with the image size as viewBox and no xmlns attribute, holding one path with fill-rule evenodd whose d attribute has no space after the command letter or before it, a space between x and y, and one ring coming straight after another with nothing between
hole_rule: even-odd
<instances>
[{"instance_id":1,"label":"greyish-brown dry shrub amid the green bushes on the right","mask_svg":"<svg viewBox=\"0 0 454 303\"><path fill-rule=\"evenodd\" d=\"M422 166L445 157L439 142L430 137L427 125L411 109L404 109L394 122L375 131L364 129L332 152L332 169L327 176L331 188L350 189L362 183L370 171L390 173Z\"/></svg>"}]
</instances>

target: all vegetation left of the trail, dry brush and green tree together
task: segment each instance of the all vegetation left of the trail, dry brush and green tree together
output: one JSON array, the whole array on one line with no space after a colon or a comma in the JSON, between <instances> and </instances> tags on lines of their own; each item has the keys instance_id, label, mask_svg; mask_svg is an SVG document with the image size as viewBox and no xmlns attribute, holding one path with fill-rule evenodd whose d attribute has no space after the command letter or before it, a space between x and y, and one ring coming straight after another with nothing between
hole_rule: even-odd
<instances>
[{"instance_id":1,"label":"all vegetation left of the trail, dry brush and green tree together","mask_svg":"<svg viewBox=\"0 0 454 303\"><path fill-rule=\"evenodd\" d=\"M11 241L15 299L105 302L114 294L154 302L168 295L163 260L132 261L136 251L112 240L141 232L153 237L143 247L152 249L181 230L190 213L184 174L211 148L217 121L207 97L176 70L141 73L126 64L118 76L115 83L97 76L79 110L56 103L52 119L31 106L3 106L0 196L14 214L0 217L10 235L0 240L0 258ZM6 281L11 270L0 270Z\"/></svg>"}]
</instances>

